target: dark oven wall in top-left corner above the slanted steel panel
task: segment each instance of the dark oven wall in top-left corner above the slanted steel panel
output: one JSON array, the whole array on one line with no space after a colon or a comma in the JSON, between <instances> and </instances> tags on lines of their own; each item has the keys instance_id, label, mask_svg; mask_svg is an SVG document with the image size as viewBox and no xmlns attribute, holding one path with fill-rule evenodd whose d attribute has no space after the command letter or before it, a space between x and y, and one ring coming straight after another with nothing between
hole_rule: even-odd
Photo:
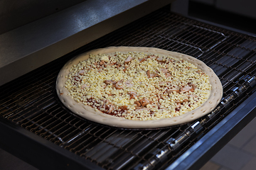
<instances>
[{"instance_id":1,"label":"dark oven wall in top-left corner above the slanted steel panel","mask_svg":"<svg viewBox=\"0 0 256 170\"><path fill-rule=\"evenodd\" d=\"M1 0L0 34L27 23L31 23L50 14L61 11L85 0Z\"/></svg>"}]
</instances>

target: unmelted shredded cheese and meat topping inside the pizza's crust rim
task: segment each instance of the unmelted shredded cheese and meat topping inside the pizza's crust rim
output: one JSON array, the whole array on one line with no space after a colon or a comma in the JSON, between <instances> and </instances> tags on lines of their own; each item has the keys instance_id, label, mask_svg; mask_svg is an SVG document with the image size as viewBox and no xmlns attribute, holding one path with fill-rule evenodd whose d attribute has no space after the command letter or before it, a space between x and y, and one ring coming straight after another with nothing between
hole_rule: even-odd
<instances>
[{"instance_id":1,"label":"unmelted shredded cheese and meat topping inside the pizza's crust rim","mask_svg":"<svg viewBox=\"0 0 256 170\"><path fill-rule=\"evenodd\" d=\"M66 78L75 101L130 120L182 115L207 101L211 89L208 75L195 65L144 52L90 55Z\"/></svg>"}]
</instances>

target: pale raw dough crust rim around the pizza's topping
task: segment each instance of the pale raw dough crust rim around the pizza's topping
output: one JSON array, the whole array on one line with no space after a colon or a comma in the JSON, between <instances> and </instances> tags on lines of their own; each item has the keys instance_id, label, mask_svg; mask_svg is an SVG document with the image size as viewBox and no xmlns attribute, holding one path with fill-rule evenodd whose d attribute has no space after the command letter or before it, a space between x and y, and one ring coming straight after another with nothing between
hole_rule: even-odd
<instances>
[{"instance_id":1,"label":"pale raw dough crust rim around the pizza's topping","mask_svg":"<svg viewBox=\"0 0 256 170\"><path fill-rule=\"evenodd\" d=\"M189 111L188 113L184 113L183 115L179 115L174 118L162 118L159 120L128 120L124 118L118 118L114 115L102 113L101 111L95 111L95 109L91 108L90 106L85 106L83 103L74 101L73 98L68 95L68 89L65 88L65 76L70 73L69 70L73 64L78 64L80 61L87 60L90 54L97 55L113 52L149 52L151 54L154 53L170 55L176 59L182 58L183 60L187 60L199 69L203 70L203 72L208 75L211 84L210 97L205 103L193 111ZM183 55L178 52L161 50L153 47L107 47L91 50L89 52L85 52L82 55L78 55L77 57L74 57L72 60L67 62L60 70L56 81L56 91L60 101L73 113L76 113L82 118L86 118L87 120L118 128L164 128L172 125L188 123L192 120L201 118L203 115L210 113L210 111L213 111L223 96L223 87L220 83L220 79L218 79L213 70L210 69L210 67L208 67L206 64L188 55Z\"/></svg>"}]
</instances>

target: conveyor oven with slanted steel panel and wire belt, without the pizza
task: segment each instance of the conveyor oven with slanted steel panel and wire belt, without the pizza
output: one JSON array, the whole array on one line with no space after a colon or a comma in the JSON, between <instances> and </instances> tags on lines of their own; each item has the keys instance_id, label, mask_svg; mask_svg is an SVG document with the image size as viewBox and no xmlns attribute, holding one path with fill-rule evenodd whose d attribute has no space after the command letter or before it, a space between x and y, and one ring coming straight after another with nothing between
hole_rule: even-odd
<instances>
[{"instance_id":1,"label":"conveyor oven with slanted steel panel and wire belt, without the pizza","mask_svg":"<svg viewBox=\"0 0 256 170\"><path fill-rule=\"evenodd\" d=\"M100 4L105 3L105 6ZM256 38L170 11L171 1L82 1L0 35L0 147L38 169L199 169L255 118ZM132 130L80 118L55 92L65 62L110 46L205 62L223 85L208 115Z\"/></svg>"}]
</instances>

